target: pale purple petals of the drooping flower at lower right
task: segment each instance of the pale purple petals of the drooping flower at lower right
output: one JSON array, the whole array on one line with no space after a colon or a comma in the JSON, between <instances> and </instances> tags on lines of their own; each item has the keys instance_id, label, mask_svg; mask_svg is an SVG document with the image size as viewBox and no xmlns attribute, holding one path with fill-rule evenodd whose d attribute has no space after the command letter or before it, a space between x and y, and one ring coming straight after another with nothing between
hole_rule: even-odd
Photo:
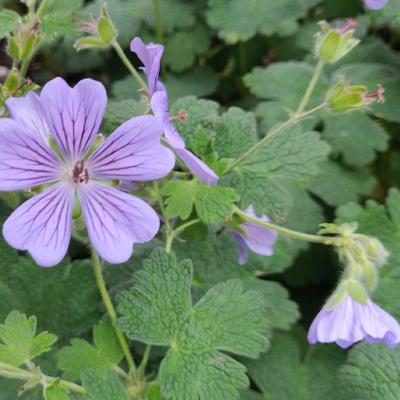
<instances>
[{"instance_id":1,"label":"pale purple petals of the drooping flower at lower right","mask_svg":"<svg viewBox=\"0 0 400 400\"><path fill-rule=\"evenodd\" d=\"M362 304L348 294L334 308L324 307L308 331L311 344L336 342L345 349L360 340L395 347L400 342L400 326L370 299Z\"/></svg>"}]
</instances>

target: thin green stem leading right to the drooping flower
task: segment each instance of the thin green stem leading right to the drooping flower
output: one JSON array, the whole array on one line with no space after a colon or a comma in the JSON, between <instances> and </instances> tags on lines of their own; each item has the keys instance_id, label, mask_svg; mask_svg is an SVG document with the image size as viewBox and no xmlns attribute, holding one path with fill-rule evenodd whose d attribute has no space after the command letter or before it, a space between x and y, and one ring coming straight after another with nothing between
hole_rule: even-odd
<instances>
[{"instance_id":1,"label":"thin green stem leading right to the drooping flower","mask_svg":"<svg viewBox=\"0 0 400 400\"><path fill-rule=\"evenodd\" d=\"M286 236L292 237L294 239L305 240L307 242L313 243L322 243L328 246L340 246L342 241L337 237L328 237L328 236L320 236L320 235L311 235L309 233L295 231L293 229L284 228L283 226L275 225L271 222L263 221L260 218L252 217L251 215L246 214L244 211L240 210L237 207L233 208L233 212L243 218L245 221L254 222L257 225L260 225L264 228L272 229L279 233L282 233Z\"/></svg>"}]
</instances>

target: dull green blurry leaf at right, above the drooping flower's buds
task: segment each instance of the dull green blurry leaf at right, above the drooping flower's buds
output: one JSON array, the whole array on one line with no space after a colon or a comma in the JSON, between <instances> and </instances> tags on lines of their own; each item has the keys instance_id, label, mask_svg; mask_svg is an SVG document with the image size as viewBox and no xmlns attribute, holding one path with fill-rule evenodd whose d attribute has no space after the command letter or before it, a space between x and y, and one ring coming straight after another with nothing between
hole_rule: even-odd
<instances>
[{"instance_id":1,"label":"dull green blurry leaf at right, above the drooping flower's buds","mask_svg":"<svg viewBox=\"0 0 400 400\"><path fill-rule=\"evenodd\" d=\"M310 190L330 206L340 206L368 195L375 184L366 169L352 170L329 162L323 165L322 174L313 181Z\"/></svg>"}]
</instances>

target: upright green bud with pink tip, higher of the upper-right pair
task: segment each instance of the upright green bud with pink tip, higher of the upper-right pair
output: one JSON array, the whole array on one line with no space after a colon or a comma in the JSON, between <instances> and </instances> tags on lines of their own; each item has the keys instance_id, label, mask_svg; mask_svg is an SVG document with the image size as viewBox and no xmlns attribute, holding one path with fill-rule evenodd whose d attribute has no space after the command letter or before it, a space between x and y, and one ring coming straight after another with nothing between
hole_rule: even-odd
<instances>
[{"instance_id":1,"label":"upright green bud with pink tip, higher of the upper-right pair","mask_svg":"<svg viewBox=\"0 0 400 400\"><path fill-rule=\"evenodd\" d=\"M357 22L348 19L346 24L333 29L326 21L320 22L322 32L317 34L316 54L320 60L335 63L360 43L354 38Z\"/></svg>"}]
</instances>

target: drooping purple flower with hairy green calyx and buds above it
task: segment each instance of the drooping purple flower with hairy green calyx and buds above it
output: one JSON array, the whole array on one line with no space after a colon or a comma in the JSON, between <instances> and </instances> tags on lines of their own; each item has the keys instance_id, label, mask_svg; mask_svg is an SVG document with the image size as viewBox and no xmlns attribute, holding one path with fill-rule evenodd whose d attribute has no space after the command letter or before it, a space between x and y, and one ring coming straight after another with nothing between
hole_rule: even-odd
<instances>
[{"instance_id":1,"label":"drooping purple flower with hairy green calyx and buds above it","mask_svg":"<svg viewBox=\"0 0 400 400\"><path fill-rule=\"evenodd\" d=\"M358 234L356 229L355 223L324 224L320 231L340 238L338 251L344 272L313 321L308 340L312 344L336 342L343 348L360 340L394 347L400 342L400 325L370 299L378 283L378 269L389 253L378 239Z\"/></svg>"}]
</instances>

